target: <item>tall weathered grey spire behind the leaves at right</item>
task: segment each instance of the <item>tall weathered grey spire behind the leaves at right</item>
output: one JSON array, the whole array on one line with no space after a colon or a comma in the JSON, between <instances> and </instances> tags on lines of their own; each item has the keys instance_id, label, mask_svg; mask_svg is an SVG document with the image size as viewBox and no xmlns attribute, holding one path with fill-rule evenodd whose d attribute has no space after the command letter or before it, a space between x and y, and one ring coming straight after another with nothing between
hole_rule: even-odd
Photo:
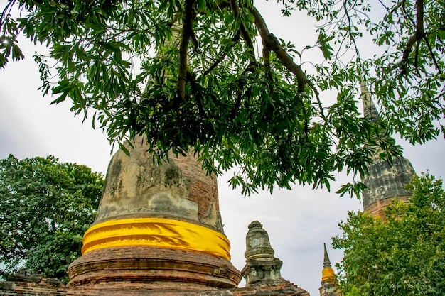
<instances>
[{"instance_id":1,"label":"tall weathered grey spire behind the leaves at right","mask_svg":"<svg viewBox=\"0 0 445 296\"><path fill-rule=\"evenodd\" d=\"M379 121L379 115L375 108L370 92L365 83L360 83L363 102L363 116L371 124ZM370 212L372 216L380 216L385 219L383 210L391 203L392 199L407 200L410 192L404 189L415 174L412 164L406 158L394 158L392 163L379 157L379 149L376 149L372 164L368 167L369 175L362 182L366 185L363 191L363 211Z\"/></svg>"}]
</instances>

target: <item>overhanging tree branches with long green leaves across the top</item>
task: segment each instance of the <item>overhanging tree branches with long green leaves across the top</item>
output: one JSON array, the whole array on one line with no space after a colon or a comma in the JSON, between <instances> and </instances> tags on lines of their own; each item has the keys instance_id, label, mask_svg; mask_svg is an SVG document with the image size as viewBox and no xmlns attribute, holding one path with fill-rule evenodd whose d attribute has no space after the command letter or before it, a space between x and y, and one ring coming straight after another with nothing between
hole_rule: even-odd
<instances>
[{"instance_id":1,"label":"overhanging tree branches with long green leaves across the top","mask_svg":"<svg viewBox=\"0 0 445 296\"><path fill-rule=\"evenodd\" d=\"M390 137L363 145L382 130L412 143L444 132L444 1L277 5L316 19L318 40L278 38L252 0L9 0L0 67L23 58L21 33L47 45L34 58L53 104L69 98L123 150L145 134L157 160L193 151L207 170L239 168L230 182L245 194L291 182L329 188L343 169L363 176L376 145L383 158L401 153ZM359 82L380 106L376 124L360 114Z\"/></svg>"}]
</instances>

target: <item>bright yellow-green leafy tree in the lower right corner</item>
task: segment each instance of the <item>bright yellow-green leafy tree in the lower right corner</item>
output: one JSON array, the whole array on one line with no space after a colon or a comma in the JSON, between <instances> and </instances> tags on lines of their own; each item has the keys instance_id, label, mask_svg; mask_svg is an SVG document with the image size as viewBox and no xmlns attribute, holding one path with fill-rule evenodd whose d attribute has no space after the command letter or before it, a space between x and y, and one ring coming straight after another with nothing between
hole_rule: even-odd
<instances>
[{"instance_id":1,"label":"bright yellow-green leafy tree in the lower right corner","mask_svg":"<svg viewBox=\"0 0 445 296\"><path fill-rule=\"evenodd\" d=\"M409 202L392 202L387 221L350 212L334 248L345 295L445 295L445 192L422 174L407 185Z\"/></svg>"}]
</instances>

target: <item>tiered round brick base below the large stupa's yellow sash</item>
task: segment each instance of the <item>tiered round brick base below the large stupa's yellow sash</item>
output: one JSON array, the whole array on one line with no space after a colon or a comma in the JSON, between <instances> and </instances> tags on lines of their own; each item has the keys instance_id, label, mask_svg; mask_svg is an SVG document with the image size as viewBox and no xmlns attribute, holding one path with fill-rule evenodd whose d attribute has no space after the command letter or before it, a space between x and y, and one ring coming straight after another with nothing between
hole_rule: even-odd
<instances>
[{"instance_id":1,"label":"tiered round brick base below the large stupa's yellow sash","mask_svg":"<svg viewBox=\"0 0 445 296\"><path fill-rule=\"evenodd\" d=\"M71 263L67 295L192 295L236 287L240 272L225 258L154 246L90 251Z\"/></svg>"}]
</instances>

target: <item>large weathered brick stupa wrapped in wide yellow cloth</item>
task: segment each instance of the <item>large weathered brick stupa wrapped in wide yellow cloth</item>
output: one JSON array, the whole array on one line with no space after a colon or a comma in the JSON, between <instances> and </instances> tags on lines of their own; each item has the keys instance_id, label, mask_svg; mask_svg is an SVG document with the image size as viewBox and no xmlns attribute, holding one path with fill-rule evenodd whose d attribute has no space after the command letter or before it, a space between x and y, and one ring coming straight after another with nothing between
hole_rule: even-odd
<instances>
[{"instance_id":1,"label":"large weathered brick stupa wrapped in wide yellow cloth","mask_svg":"<svg viewBox=\"0 0 445 296\"><path fill-rule=\"evenodd\" d=\"M236 287L214 175L193 155L154 164L144 138L109 163L68 295L193 295Z\"/></svg>"}]
</instances>

